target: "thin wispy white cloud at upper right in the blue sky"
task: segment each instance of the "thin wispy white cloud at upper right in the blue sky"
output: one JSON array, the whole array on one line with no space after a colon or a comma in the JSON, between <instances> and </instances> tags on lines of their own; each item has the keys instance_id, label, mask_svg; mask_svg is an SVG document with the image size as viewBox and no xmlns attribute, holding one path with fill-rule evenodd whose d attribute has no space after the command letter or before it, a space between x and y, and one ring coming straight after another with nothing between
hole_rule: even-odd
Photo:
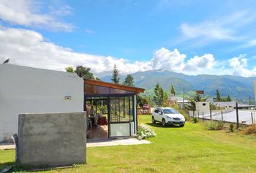
<instances>
[{"instance_id":1,"label":"thin wispy white cloud at upper right in the blue sky","mask_svg":"<svg viewBox=\"0 0 256 173\"><path fill-rule=\"evenodd\" d=\"M254 13L242 11L217 19L208 19L205 22L183 23L179 27L182 32L181 40L194 40L200 45L215 40L242 41L245 37L239 33L239 29L255 20Z\"/></svg>"}]
</instances>

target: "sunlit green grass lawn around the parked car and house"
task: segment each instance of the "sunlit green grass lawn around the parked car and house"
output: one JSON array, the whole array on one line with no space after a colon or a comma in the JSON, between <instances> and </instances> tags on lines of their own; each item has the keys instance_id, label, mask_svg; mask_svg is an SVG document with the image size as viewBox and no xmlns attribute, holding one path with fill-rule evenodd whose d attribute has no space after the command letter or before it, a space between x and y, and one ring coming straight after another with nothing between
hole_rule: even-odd
<instances>
[{"instance_id":1,"label":"sunlit green grass lawn around the parked car and house","mask_svg":"<svg viewBox=\"0 0 256 173\"><path fill-rule=\"evenodd\" d=\"M140 115L140 123L150 116ZM47 172L256 172L256 138L205 130L202 123L184 128L153 127L156 138L138 146L88 148L88 164ZM14 151L0 151L0 167Z\"/></svg>"}]
</instances>

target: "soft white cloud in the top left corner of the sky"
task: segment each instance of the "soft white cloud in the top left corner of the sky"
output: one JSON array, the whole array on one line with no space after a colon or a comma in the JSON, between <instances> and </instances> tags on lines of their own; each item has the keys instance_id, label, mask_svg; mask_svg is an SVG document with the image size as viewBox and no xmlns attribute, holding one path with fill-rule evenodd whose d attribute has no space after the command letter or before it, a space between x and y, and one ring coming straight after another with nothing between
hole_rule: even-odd
<instances>
[{"instance_id":1,"label":"soft white cloud in the top left corner of the sky","mask_svg":"<svg viewBox=\"0 0 256 173\"><path fill-rule=\"evenodd\" d=\"M0 19L13 25L24 25L27 27L46 27L51 30L72 31L73 27L65 22L59 22L54 15L40 14L38 4L30 0L1 0ZM70 8L65 6L62 13L67 14ZM58 13L61 13L58 11Z\"/></svg>"}]
</instances>

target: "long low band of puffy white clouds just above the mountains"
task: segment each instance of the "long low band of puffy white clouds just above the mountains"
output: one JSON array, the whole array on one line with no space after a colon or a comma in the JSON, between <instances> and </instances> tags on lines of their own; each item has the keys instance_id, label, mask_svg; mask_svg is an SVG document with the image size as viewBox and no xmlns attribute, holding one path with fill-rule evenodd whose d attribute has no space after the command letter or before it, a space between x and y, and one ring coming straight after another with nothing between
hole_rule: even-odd
<instances>
[{"instance_id":1,"label":"long low band of puffy white clouds just above the mountains","mask_svg":"<svg viewBox=\"0 0 256 173\"><path fill-rule=\"evenodd\" d=\"M64 71L67 66L87 66L97 76L111 74L114 64L120 74L132 74L137 71L168 70L184 74L235 74L239 76L256 76L256 67L247 69L245 55L231 58L231 68L217 71L216 61L211 54L187 58L179 50L160 48L150 61L129 62L124 58L97 56L87 53L76 53L49 41L40 33L17 28L0 26L0 63L11 58L10 63Z\"/></svg>"}]
</instances>

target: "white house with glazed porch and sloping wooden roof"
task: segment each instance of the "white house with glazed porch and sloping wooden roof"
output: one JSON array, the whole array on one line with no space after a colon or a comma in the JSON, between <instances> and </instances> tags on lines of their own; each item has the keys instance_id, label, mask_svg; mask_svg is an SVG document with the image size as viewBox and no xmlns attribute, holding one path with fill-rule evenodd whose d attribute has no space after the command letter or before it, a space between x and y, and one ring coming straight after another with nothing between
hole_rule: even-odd
<instances>
[{"instance_id":1,"label":"white house with glazed porch and sloping wooden roof","mask_svg":"<svg viewBox=\"0 0 256 173\"><path fill-rule=\"evenodd\" d=\"M134 136L140 92L144 89L82 79L64 71L0 64L0 142L11 141L22 113L82 112L92 105L107 126L98 124L95 136L101 132L106 138Z\"/></svg>"}]
</instances>

